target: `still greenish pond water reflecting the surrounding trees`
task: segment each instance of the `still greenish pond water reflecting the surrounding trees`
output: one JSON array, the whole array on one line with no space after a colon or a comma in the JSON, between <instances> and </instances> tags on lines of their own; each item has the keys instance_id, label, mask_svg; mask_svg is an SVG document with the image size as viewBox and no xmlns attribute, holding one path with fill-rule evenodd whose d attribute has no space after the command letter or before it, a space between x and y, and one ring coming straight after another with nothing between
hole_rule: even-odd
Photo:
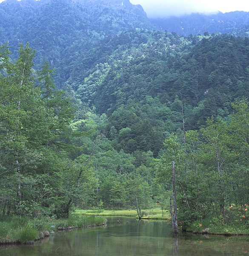
<instances>
[{"instance_id":1,"label":"still greenish pond water reflecting the surrounding trees","mask_svg":"<svg viewBox=\"0 0 249 256\"><path fill-rule=\"evenodd\" d=\"M120 219L120 222L117 220ZM105 227L54 233L34 245L3 246L0 256L238 256L249 254L248 236L180 234L165 221L108 218Z\"/></svg>"}]
</instances>

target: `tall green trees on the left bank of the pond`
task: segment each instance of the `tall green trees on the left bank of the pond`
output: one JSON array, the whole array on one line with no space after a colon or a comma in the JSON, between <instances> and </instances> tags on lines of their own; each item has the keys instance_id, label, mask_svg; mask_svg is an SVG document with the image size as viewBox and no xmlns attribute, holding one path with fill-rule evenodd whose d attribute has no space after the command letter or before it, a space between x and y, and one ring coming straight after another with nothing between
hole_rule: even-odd
<instances>
[{"instance_id":1,"label":"tall green trees on the left bank of the pond","mask_svg":"<svg viewBox=\"0 0 249 256\"><path fill-rule=\"evenodd\" d=\"M72 107L62 91L55 91L48 64L40 73L47 74L48 84L35 86L34 51L28 44L20 45L14 63L7 58L8 47L1 49L5 56L5 73L0 74L2 214L52 215L54 207L59 207L53 203L55 198L60 201L54 191L61 184L58 178L67 159L62 151L70 133Z\"/></svg>"}]
</instances>

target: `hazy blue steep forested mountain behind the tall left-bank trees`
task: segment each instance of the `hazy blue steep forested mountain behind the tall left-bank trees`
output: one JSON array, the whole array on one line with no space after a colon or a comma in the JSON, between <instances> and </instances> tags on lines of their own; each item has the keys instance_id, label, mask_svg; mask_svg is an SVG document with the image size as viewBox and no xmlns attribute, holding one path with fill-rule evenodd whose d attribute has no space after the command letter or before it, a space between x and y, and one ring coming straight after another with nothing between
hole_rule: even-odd
<instances>
[{"instance_id":1,"label":"hazy blue steep forested mountain behind the tall left-bank trees","mask_svg":"<svg viewBox=\"0 0 249 256\"><path fill-rule=\"evenodd\" d=\"M47 59L61 86L79 56L100 40L135 28L153 29L143 8L129 0L6 0L0 4L0 43L15 58L19 43L37 50L36 64ZM14 17L14 18L13 18Z\"/></svg>"}]
</instances>

